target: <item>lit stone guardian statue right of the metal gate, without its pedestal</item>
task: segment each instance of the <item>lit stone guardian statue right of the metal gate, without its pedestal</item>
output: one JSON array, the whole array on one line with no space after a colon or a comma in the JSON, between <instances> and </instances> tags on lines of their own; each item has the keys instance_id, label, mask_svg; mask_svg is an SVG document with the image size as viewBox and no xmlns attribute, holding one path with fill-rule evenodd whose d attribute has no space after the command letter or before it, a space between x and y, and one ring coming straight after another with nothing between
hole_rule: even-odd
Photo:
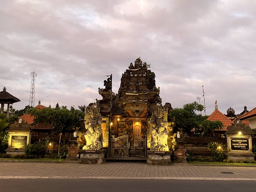
<instances>
[{"instance_id":1,"label":"lit stone guardian statue right of the metal gate, without its pedestal","mask_svg":"<svg viewBox=\"0 0 256 192\"><path fill-rule=\"evenodd\" d=\"M157 103L154 113L151 116L151 151L169 151L167 145L167 121L164 121L164 108L161 103Z\"/></svg>"}]
</instances>

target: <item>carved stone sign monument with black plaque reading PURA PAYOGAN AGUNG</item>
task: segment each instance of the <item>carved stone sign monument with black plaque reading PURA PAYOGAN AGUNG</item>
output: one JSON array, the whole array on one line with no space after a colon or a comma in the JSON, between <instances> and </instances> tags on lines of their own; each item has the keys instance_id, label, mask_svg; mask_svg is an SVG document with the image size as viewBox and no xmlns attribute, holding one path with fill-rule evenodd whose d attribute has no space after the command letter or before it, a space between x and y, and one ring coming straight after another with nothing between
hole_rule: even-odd
<instances>
[{"instance_id":1,"label":"carved stone sign monument with black plaque reading PURA PAYOGAN AGUNG","mask_svg":"<svg viewBox=\"0 0 256 192\"><path fill-rule=\"evenodd\" d=\"M227 159L234 161L254 161L255 154L252 153L252 130L242 121L237 120L235 124L227 127Z\"/></svg>"}]
</instances>

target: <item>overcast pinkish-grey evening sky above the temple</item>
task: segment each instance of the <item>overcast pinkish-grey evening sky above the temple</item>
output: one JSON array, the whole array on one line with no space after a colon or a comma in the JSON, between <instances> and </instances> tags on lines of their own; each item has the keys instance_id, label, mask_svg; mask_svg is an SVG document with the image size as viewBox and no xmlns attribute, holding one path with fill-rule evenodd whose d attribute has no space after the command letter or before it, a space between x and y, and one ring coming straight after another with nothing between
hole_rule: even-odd
<instances>
[{"instance_id":1,"label":"overcast pinkish-grey evening sky above the temple","mask_svg":"<svg viewBox=\"0 0 256 192\"><path fill-rule=\"evenodd\" d=\"M254 0L0 3L0 87L21 100L16 109L29 104L31 71L35 106L78 108L101 99L106 75L117 93L138 57L151 64L163 104L198 101L204 86L207 115L215 100L222 113L256 106Z\"/></svg>"}]
</instances>

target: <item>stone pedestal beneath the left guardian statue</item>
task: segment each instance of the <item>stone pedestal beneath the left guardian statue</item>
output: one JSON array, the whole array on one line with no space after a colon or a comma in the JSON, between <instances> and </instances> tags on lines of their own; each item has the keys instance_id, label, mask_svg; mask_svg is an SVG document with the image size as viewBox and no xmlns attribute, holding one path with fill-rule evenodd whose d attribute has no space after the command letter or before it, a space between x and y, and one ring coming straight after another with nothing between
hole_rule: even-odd
<instances>
[{"instance_id":1,"label":"stone pedestal beneath the left guardian statue","mask_svg":"<svg viewBox=\"0 0 256 192\"><path fill-rule=\"evenodd\" d=\"M80 158L78 163L80 164L103 164L106 162L105 158L106 150L79 150Z\"/></svg>"}]
</instances>

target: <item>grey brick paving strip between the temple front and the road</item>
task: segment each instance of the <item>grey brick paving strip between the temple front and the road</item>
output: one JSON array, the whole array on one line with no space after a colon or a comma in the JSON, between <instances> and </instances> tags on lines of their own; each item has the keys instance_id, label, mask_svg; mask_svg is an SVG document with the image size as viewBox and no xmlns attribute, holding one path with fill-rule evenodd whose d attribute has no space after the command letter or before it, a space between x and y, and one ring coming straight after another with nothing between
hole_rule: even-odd
<instances>
[{"instance_id":1,"label":"grey brick paving strip between the temple front and the road","mask_svg":"<svg viewBox=\"0 0 256 192\"><path fill-rule=\"evenodd\" d=\"M256 180L256 167L148 166L142 163L0 163L0 178Z\"/></svg>"}]
</instances>

